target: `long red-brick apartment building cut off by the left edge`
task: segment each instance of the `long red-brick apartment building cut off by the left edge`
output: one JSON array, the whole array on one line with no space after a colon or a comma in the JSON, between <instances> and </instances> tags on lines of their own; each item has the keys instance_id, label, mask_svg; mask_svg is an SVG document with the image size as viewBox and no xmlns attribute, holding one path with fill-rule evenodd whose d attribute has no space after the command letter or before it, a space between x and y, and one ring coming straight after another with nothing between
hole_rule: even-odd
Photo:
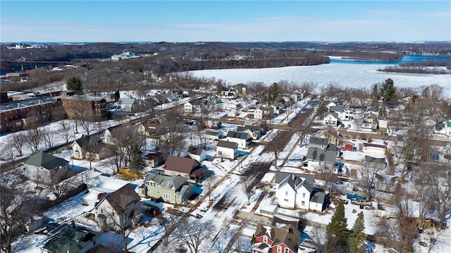
<instances>
[{"instance_id":1,"label":"long red-brick apartment building cut off by the left edge","mask_svg":"<svg viewBox=\"0 0 451 253\"><path fill-rule=\"evenodd\" d=\"M61 106L54 97L30 97L0 104L0 132L23 130L30 123L51 121L54 109Z\"/></svg>"}]
</instances>

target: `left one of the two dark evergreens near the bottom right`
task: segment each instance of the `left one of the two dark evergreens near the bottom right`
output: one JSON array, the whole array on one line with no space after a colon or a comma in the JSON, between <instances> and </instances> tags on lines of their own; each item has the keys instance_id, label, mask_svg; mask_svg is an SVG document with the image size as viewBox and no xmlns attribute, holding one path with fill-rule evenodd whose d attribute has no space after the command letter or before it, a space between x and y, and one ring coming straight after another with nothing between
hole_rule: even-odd
<instances>
[{"instance_id":1,"label":"left one of the two dark evergreens near the bottom right","mask_svg":"<svg viewBox=\"0 0 451 253\"><path fill-rule=\"evenodd\" d=\"M338 247L346 248L349 230L347 230L347 218L345 217L345 205L343 202L340 202L335 209L335 213L326 227L326 233L328 238L335 237Z\"/></svg>"}]
</instances>

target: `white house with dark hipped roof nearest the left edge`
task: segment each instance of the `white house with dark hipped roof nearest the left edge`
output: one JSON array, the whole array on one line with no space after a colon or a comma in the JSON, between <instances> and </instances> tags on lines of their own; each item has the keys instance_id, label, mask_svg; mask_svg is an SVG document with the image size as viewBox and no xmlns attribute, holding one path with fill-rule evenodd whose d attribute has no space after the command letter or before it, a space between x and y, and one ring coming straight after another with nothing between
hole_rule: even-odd
<instances>
[{"instance_id":1,"label":"white house with dark hipped roof nearest the left edge","mask_svg":"<svg viewBox=\"0 0 451 253\"><path fill-rule=\"evenodd\" d=\"M49 183L56 173L59 175L66 174L69 169L69 161L44 152L33 154L23 164L27 178L41 180L44 183Z\"/></svg>"}]
</instances>

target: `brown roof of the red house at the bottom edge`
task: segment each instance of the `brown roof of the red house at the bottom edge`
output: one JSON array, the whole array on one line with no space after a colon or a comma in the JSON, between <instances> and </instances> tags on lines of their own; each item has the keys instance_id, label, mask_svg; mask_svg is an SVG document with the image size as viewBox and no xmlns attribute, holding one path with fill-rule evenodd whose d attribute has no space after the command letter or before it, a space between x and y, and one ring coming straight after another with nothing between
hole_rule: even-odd
<instances>
[{"instance_id":1,"label":"brown roof of the red house at the bottom edge","mask_svg":"<svg viewBox=\"0 0 451 253\"><path fill-rule=\"evenodd\" d=\"M275 226L262 225L259 223L255 230L255 236L260 237L262 235L266 235L273 240L272 246L285 244L292 249L293 252L297 252L297 245L301 238L301 232L292 225L277 228Z\"/></svg>"}]
</instances>

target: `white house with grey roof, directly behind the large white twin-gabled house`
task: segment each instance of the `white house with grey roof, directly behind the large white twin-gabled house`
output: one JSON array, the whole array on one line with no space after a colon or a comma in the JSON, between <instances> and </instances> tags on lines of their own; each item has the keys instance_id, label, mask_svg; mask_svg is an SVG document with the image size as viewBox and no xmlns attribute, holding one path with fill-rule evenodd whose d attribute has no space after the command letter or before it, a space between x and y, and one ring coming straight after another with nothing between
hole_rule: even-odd
<instances>
[{"instance_id":1,"label":"white house with grey roof, directly behind the large white twin-gabled house","mask_svg":"<svg viewBox=\"0 0 451 253\"><path fill-rule=\"evenodd\" d=\"M302 161L302 167L307 168L307 171L338 173L338 168L335 168L336 157L334 151L309 147L307 156Z\"/></svg>"}]
</instances>

